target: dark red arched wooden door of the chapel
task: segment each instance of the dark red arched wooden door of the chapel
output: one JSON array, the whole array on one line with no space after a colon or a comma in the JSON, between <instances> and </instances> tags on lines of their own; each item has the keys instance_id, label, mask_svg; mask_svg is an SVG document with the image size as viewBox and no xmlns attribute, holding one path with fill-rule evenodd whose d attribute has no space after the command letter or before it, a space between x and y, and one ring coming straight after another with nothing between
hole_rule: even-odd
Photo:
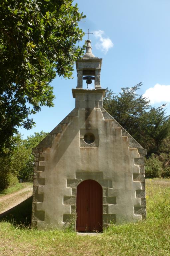
<instances>
[{"instance_id":1,"label":"dark red arched wooden door of the chapel","mask_svg":"<svg viewBox=\"0 0 170 256\"><path fill-rule=\"evenodd\" d=\"M102 231L102 188L93 180L77 187L77 231Z\"/></svg>"}]
</instances>

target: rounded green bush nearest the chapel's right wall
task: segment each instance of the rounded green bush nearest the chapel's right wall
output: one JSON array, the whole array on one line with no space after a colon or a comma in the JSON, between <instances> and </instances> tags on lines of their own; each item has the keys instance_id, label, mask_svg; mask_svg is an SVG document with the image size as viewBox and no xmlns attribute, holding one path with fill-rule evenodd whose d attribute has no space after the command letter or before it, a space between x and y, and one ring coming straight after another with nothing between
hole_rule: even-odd
<instances>
[{"instance_id":1,"label":"rounded green bush nearest the chapel's right wall","mask_svg":"<svg viewBox=\"0 0 170 256\"><path fill-rule=\"evenodd\" d=\"M148 159L145 159L145 177L146 178L159 178L163 172L162 163L159 161L159 158L154 154Z\"/></svg>"}]
</instances>

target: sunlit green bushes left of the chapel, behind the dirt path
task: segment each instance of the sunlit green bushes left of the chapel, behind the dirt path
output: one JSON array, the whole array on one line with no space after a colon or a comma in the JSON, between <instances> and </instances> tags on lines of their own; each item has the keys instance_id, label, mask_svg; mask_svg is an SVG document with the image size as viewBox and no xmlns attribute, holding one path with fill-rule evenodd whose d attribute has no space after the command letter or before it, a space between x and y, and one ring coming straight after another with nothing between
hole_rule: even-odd
<instances>
[{"instance_id":1,"label":"sunlit green bushes left of the chapel, behind the dirt path","mask_svg":"<svg viewBox=\"0 0 170 256\"><path fill-rule=\"evenodd\" d=\"M22 140L20 134L13 137L13 151L10 155L0 157L0 191L15 185L18 179L33 180L34 156L32 149L46 135L47 133L41 131L35 133L35 136L28 136L27 140Z\"/></svg>"}]
</instances>

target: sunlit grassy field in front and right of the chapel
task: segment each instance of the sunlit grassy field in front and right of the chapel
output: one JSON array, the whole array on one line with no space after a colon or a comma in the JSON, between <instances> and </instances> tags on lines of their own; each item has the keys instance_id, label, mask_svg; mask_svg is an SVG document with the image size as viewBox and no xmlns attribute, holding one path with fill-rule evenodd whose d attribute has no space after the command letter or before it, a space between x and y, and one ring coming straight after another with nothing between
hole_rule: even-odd
<instances>
[{"instance_id":1,"label":"sunlit grassy field in front and right of the chapel","mask_svg":"<svg viewBox=\"0 0 170 256\"><path fill-rule=\"evenodd\" d=\"M0 255L170 256L170 180L146 181L147 219L112 225L96 236L0 223Z\"/></svg>"}]
</instances>

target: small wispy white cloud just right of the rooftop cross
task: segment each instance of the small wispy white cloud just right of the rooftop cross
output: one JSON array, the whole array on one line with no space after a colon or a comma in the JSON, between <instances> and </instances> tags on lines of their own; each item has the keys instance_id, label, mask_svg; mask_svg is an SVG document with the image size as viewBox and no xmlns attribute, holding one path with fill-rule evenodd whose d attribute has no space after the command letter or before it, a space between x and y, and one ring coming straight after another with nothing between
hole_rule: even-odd
<instances>
[{"instance_id":1,"label":"small wispy white cloud just right of the rooftop cross","mask_svg":"<svg viewBox=\"0 0 170 256\"><path fill-rule=\"evenodd\" d=\"M103 51L105 54L108 52L109 48L113 47L113 43L111 41L110 38L104 38L103 37L103 34L104 34L104 31L102 30L97 30L97 31L94 31L94 36L96 38L99 38L100 40L100 43L96 43L95 44L95 47L101 51Z\"/></svg>"}]
</instances>

